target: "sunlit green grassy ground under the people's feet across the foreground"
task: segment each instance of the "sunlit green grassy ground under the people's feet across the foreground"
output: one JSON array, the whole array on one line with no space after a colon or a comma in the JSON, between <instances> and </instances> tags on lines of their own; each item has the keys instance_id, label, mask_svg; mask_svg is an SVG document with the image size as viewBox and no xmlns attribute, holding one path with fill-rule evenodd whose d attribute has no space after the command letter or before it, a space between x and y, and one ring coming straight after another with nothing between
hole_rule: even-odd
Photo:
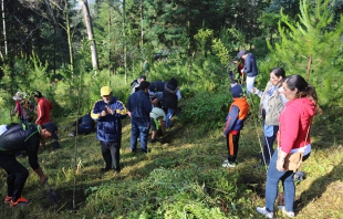
<instances>
[{"instance_id":1,"label":"sunlit green grassy ground under the people's feet across the foreground","mask_svg":"<svg viewBox=\"0 0 343 219\"><path fill-rule=\"evenodd\" d=\"M10 208L0 205L0 218L263 218L256 212L264 205L266 169L254 169L260 152L252 116L241 133L239 165L221 167L227 150L221 128L187 126L174 118L175 126L156 144L152 153L129 153L129 119L123 125L121 174L101 174L104 166L95 134L67 137L75 117L59 121L62 148L40 148L39 159L61 196L50 207L48 190L30 169L28 158L19 160L30 169L23 196L30 206ZM259 124L258 124L259 125ZM301 170L306 179L297 184L297 218L342 218L343 171L341 124L315 119L313 152ZM76 146L75 146L76 144ZM75 149L76 148L76 149ZM4 198L6 173L0 169L0 192ZM276 211L277 218L282 218Z\"/></svg>"}]
</instances>

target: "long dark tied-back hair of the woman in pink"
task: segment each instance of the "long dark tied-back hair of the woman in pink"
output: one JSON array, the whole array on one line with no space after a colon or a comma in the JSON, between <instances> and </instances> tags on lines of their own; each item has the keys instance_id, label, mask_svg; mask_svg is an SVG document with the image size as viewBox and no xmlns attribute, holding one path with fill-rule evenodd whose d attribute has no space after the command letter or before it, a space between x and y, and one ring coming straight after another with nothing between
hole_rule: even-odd
<instances>
[{"instance_id":1,"label":"long dark tied-back hair of the woman in pink","mask_svg":"<svg viewBox=\"0 0 343 219\"><path fill-rule=\"evenodd\" d=\"M298 90L298 92L295 93L295 98L308 97L315 104L316 111L319 113L322 112L318 104L315 87L308 84L308 82L301 75L290 75L285 77L284 83L291 91L294 91L295 88Z\"/></svg>"}]
</instances>

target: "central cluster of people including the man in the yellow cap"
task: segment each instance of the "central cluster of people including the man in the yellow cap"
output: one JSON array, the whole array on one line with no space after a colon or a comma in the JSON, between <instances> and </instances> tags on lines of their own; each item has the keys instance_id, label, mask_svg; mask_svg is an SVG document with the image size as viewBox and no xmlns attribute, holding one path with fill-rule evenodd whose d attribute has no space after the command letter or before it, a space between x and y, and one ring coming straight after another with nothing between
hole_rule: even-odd
<instances>
[{"instance_id":1,"label":"central cluster of people including the man in the yellow cap","mask_svg":"<svg viewBox=\"0 0 343 219\"><path fill-rule=\"evenodd\" d=\"M177 107L177 101L181 98L177 80L170 79L164 82L147 82L142 75L132 84L132 94L126 105L118 101L110 86L101 88L101 100L97 101L91 117L97 123L97 139L102 148L105 167L102 171L121 171L121 140L122 119L131 117L131 152L137 152L138 142L141 153L148 153L147 147L149 129L152 128L150 143L156 142L156 136L163 135L170 127L170 118ZM165 107L163 109L162 107ZM167 112L167 114L165 113Z\"/></svg>"}]
</instances>

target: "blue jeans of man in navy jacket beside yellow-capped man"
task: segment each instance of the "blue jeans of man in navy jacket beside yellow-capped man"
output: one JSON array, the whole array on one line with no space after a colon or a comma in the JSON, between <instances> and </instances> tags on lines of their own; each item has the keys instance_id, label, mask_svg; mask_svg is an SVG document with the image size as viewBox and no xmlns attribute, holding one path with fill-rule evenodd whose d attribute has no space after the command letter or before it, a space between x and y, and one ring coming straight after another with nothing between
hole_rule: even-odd
<instances>
[{"instance_id":1,"label":"blue jeans of man in navy jacket beside yellow-capped man","mask_svg":"<svg viewBox=\"0 0 343 219\"><path fill-rule=\"evenodd\" d=\"M137 121L136 118L131 118L131 149L136 150L137 148L137 138L141 140L141 150L147 153L147 136L150 129L150 123L144 123Z\"/></svg>"}]
</instances>

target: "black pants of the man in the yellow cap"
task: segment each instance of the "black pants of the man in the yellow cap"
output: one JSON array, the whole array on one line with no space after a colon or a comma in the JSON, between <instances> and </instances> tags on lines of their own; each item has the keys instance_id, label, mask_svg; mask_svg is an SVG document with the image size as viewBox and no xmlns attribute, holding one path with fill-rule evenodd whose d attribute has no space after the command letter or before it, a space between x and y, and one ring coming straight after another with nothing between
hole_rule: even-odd
<instances>
[{"instance_id":1,"label":"black pants of the man in the yellow cap","mask_svg":"<svg viewBox=\"0 0 343 219\"><path fill-rule=\"evenodd\" d=\"M121 140L113 143L100 142L103 158L105 160L106 169L114 169L121 171Z\"/></svg>"}]
</instances>

